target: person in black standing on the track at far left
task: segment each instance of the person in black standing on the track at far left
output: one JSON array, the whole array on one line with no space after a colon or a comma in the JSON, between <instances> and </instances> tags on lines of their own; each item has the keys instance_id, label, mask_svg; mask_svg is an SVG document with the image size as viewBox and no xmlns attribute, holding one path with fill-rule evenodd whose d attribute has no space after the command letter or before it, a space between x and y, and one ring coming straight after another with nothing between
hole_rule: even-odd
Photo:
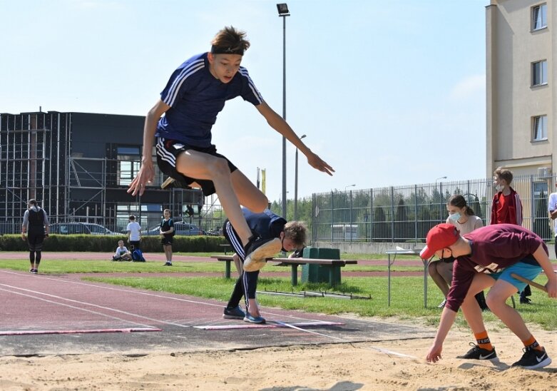
<instances>
[{"instance_id":1,"label":"person in black standing on the track at far left","mask_svg":"<svg viewBox=\"0 0 557 391\"><path fill-rule=\"evenodd\" d=\"M48 237L48 216L44 209L34 199L29 200L28 209L24 213L24 223L21 225L21 239L29 243L29 273L39 273L41 250L44 238Z\"/></svg>"}]
</instances>

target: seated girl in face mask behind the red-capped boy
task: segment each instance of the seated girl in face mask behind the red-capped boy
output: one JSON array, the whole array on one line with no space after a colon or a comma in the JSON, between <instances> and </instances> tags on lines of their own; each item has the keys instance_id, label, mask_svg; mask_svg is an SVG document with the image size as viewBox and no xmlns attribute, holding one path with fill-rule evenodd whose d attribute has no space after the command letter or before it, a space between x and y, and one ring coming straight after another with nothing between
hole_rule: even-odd
<instances>
[{"instance_id":1,"label":"seated girl in face mask behind the red-capped boy","mask_svg":"<svg viewBox=\"0 0 557 391\"><path fill-rule=\"evenodd\" d=\"M474 215L474 210L466 204L466 199L460 194L455 194L449 198L449 202L446 203L446 210L449 212L446 223L454 225L462 235L484 226L481 218ZM453 263L454 258L444 258L430 262L427 267L431 279L434 280L445 297L441 304L437 306L438 308L444 308L445 306L446 295L449 293L453 278ZM487 309L483 291L476 295L476 300L481 310Z\"/></svg>"}]
</instances>

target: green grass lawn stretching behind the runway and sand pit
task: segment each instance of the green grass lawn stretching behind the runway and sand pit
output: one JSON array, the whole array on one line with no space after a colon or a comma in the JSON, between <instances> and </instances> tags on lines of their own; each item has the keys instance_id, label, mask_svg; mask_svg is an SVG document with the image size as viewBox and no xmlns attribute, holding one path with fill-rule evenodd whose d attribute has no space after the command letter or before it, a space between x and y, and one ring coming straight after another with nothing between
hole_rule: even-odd
<instances>
[{"instance_id":1,"label":"green grass lawn stretching behind the runway and sand pit","mask_svg":"<svg viewBox=\"0 0 557 391\"><path fill-rule=\"evenodd\" d=\"M199 255L199 254L195 254ZM384 255L383 255L384 256ZM370 257L349 257L350 259L370 259ZM348 258L347 258L348 259ZM371 258L373 259L373 258ZM382 258L375 258L382 259ZM414 258L415 259L415 258ZM385 260L385 264L387 260ZM29 263L24 260L0 260L0 268L26 271ZM41 264L41 274L61 273L144 273L145 276L86 276L85 280L125 285L133 288L142 288L154 291L176 293L180 295L193 295L202 298L223 300L223 305L232 293L235 283L235 270L232 266L232 279L223 277L164 277L150 276L150 273L223 273L225 265L222 262L175 262L173 267L163 266L161 262L148 261L145 263L111 262L104 260L53 260L46 259ZM387 266L348 265L344 271L386 271ZM421 271L423 266L419 261L417 266L392 266L392 270ZM286 272L288 277L273 276L276 272ZM224 273L223 273L224 274ZM257 300L263 308L285 308L291 310L304 310L314 313L354 313L362 316L397 317L402 320L420 318L421 322L435 326L439 323L441 310L436 308L442 300L439 289L429 279L428 281L428 308L424 308L424 282L423 277L395 277L391 279L391 306L387 306L387 278L386 277L342 277L342 285L334 288L327 284L301 283L296 287L290 285L290 268L267 265L260 275L257 290L295 292L303 291L335 292L352 294L371 299L344 299L322 297L290 297L283 295L268 295L260 293ZM536 282L545 284L545 275L536 278ZM532 305L518 304L518 295L515 295L516 305L527 323L536 323L547 330L557 328L556 300L551 300L535 288L531 297ZM510 304L510 300L509 300ZM459 315L457 324L464 326L464 318ZM487 322L494 322L496 327L505 327L493 314L484 313Z\"/></svg>"}]
</instances>

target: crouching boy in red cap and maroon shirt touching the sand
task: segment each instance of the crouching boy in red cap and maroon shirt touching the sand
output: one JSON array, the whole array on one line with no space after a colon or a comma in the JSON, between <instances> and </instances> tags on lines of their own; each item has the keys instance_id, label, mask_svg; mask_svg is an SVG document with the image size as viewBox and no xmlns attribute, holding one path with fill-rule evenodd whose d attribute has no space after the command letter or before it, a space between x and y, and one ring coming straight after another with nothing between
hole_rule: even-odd
<instances>
[{"instance_id":1,"label":"crouching boy in red cap and maroon shirt touching the sand","mask_svg":"<svg viewBox=\"0 0 557 391\"><path fill-rule=\"evenodd\" d=\"M535 369L551 364L546 350L526 327L521 315L506 300L525 283L516 280L512 273L533 280L546 273L546 288L550 298L557 298L557 275L548 257L543 240L535 233L512 224L487 225L464 236L451 224L439 224L429 230L426 247L420 256L429 260L434 255L441 259L454 258L453 280L441 315L434 344L427 353L428 362L441 359L446 335L454 323L459 308L470 326L476 344L459 358L492 360L497 353L486 331L481 310L474 295L490 288L487 305L501 321L523 342L523 356L513 366Z\"/></svg>"}]
</instances>

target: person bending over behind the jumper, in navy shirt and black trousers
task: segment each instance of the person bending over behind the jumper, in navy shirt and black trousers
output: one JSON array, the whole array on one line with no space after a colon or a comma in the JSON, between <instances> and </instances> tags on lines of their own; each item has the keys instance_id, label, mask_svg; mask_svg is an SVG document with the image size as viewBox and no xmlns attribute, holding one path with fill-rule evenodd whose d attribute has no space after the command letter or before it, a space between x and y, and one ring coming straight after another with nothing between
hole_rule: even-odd
<instances>
[{"instance_id":1,"label":"person bending over behind the jumper, in navy shirt and black trousers","mask_svg":"<svg viewBox=\"0 0 557 391\"><path fill-rule=\"evenodd\" d=\"M304 223L300 221L287 223L284 218L275 215L269 209L265 209L263 213L253 213L247 208L242 208L242 213L252 233L258 235L262 240L278 238L283 251L292 251L304 247L307 238L307 228ZM223 318L243 319L249 323L265 323L265 318L261 317L257 300L255 300L255 291L257 290L259 270L265 265L266 260L263 259L258 263L254 260L252 260L252 263L244 262L246 255L242 241L235 229L232 228L230 221L225 220L223 232L226 240L235 250L235 256L237 255L243 263L243 271L236 281L234 291L224 310ZM245 313L240 308L242 296L245 298Z\"/></svg>"}]
</instances>

